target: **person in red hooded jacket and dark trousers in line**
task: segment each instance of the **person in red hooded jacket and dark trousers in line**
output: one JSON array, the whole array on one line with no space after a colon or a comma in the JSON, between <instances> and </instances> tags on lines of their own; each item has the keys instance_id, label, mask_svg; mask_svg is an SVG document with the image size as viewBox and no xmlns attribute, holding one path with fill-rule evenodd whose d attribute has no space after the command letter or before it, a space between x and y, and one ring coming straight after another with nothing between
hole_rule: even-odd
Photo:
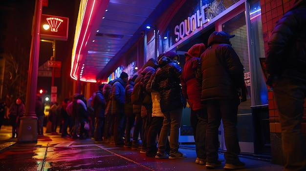
<instances>
[{"instance_id":1,"label":"person in red hooded jacket and dark trousers in line","mask_svg":"<svg viewBox=\"0 0 306 171\"><path fill-rule=\"evenodd\" d=\"M193 45L185 53L186 63L182 69L182 94L191 108L190 123L196 142L197 164L206 164L205 137L207 127L207 109L201 102L201 65L200 56L205 51L203 43Z\"/></svg>"}]
</instances>

